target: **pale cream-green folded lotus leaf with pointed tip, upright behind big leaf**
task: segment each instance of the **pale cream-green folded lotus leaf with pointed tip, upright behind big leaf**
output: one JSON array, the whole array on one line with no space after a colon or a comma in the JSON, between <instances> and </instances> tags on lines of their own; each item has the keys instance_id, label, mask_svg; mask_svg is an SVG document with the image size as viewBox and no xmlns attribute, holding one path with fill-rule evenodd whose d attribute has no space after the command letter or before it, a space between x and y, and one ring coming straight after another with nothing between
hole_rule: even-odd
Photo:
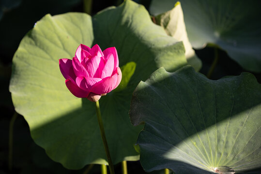
<instances>
[{"instance_id":1,"label":"pale cream-green folded lotus leaf with pointed tip, upright behind big leaf","mask_svg":"<svg viewBox=\"0 0 261 174\"><path fill-rule=\"evenodd\" d=\"M162 26L169 36L182 41L185 47L185 57L187 63L198 72L202 66L201 60L197 57L193 50L191 43L188 40L186 27L184 23L183 11L179 2L175 4L175 7L163 14L159 14L155 17L156 24Z\"/></svg>"}]
</instances>

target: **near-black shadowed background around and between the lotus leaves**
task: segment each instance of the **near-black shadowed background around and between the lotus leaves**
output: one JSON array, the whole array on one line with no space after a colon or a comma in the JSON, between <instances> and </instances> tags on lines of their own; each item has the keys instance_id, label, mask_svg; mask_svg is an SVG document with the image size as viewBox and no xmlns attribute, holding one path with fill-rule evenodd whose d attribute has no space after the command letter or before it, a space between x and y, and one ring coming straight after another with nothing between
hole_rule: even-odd
<instances>
[{"instance_id":1,"label":"near-black shadowed background around and between the lotus leaves","mask_svg":"<svg viewBox=\"0 0 261 174\"><path fill-rule=\"evenodd\" d=\"M118 6L123 0L93 0L91 15L108 6ZM135 0L147 9L151 0ZM31 139L30 130L23 116L18 115L14 122L12 170L8 168L9 125L15 113L9 92L12 58L23 36L32 29L35 22L45 14L84 12L83 0L0 0L0 174L84 174L82 170L67 170L60 163L50 160L41 147ZM214 48L196 50L202 61L200 73L207 74L214 60ZM219 60L211 79L226 75L239 75L243 70L225 51L218 50ZM250 72L251 73L251 72ZM261 73L254 73L261 83ZM115 166L121 173L121 165ZM145 174L139 161L128 161L130 174ZM100 166L94 165L91 174L99 174ZM154 173L163 173L154 172Z\"/></svg>"}]
</instances>

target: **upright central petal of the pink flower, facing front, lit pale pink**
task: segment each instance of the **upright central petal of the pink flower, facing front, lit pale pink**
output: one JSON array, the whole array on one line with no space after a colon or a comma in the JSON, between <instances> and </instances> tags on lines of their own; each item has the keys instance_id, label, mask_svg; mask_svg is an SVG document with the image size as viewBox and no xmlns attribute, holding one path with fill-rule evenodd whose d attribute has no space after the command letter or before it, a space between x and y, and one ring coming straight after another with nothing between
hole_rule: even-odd
<instances>
[{"instance_id":1,"label":"upright central petal of the pink flower, facing front, lit pale pink","mask_svg":"<svg viewBox=\"0 0 261 174\"><path fill-rule=\"evenodd\" d=\"M90 77L100 78L104 65L104 60L101 57L94 56L92 58L89 58L86 63L85 69Z\"/></svg>"}]
</instances>

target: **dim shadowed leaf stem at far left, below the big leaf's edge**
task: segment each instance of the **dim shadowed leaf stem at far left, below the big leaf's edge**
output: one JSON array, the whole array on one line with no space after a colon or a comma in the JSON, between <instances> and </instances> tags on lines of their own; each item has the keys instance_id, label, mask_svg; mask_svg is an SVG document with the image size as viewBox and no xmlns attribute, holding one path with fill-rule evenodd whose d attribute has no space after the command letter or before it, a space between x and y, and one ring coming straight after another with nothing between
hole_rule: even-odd
<instances>
[{"instance_id":1,"label":"dim shadowed leaf stem at far left, below the big leaf's edge","mask_svg":"<svg viewBox=\"0 0 261 174\"><path fill-rule=\"evenodd\" d=\"M12 171L13 163L13 133L14 133L14 123L17 118L17 112L14 113L9 124L9 153L8 153L8 169Z\"/></svg>"}]
</instances>

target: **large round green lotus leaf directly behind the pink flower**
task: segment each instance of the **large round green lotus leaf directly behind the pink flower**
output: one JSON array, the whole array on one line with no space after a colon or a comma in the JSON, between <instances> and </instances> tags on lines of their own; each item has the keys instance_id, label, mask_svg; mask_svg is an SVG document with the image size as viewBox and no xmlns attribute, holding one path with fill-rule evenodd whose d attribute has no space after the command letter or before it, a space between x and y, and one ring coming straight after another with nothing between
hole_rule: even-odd
<instances>
[{"instance_id":1,"label":"large round green lotus leaf directly behind the pink flower","mask_svg":"<svg viewBox=\"0 0 261 174\"><path fill-rule=\"evenodd\" d=\"M184 46L130 0L92 18L48 14L36 23L15 53L10 91L35 143L70 169L107 163L95 104L73 96L59 69L59 58L72 59L80 43L118 51L123 80L119 89L101 98L101 114L113 163L138 160L133 145L141 127L134 128L128 116L132 92L157 68L175 70L186 64Z\"/></svg>"}]
</instances>

